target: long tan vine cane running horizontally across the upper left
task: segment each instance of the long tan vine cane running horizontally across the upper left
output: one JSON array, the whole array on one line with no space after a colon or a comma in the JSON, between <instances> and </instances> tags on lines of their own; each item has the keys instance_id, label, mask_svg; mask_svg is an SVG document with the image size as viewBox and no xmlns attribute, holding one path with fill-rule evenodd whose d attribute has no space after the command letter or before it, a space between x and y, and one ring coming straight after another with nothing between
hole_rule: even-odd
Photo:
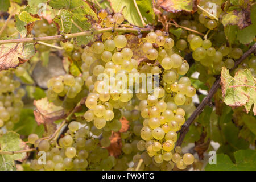
<instances>
[{"instance_id":1,"label":"long tan vine cane running horizontally across the upper left","mask_svg":"<svg viewBox=\"0 0 256 182\"><path fill-rule=\"evenodd\" d=\"M118 27L118 28L115 28L114 31L138 34L138 32L148 33L151 31L151 28ZM22 42L30 43L30 42L38 42L38 41L45 41L45 40L64 40L64 39L76 38L76 37L80 37L80 36L91 36L94 34L101 34L104 32L113 32L113 27L78 32L78 33L73 33L73 34L65 34L65 35L53 35L53 36L44 36L44 37L38 37L38 38L32 37L32 38L22 38L22 39L0 40L0 44L22 43Z\"/></svg>"}]
</instances>

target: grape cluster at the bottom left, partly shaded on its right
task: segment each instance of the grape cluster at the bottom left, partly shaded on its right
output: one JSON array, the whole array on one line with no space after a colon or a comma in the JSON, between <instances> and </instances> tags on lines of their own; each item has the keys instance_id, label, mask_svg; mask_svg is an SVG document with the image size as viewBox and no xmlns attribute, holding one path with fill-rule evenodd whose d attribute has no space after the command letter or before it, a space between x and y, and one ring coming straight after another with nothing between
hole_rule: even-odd
<instances>
[{"instance_id":1,"label":"grape cluster at the bottom left, partly shaded on its right","mask_svg":"<svg viewBox=\"0 0 256 182\"><path fill-rule=\"evenodd\" d=\"M100 147L100 140L90 137L90 126L79 127L79 122L68 125L65 136L59 139L59 145L53 140L41 140L36 134L28 136L28 142L46 152L46 163L40 165L38 159L32 160L30 167L34 170L110 170L116 160L109 156L106 148ZM40 156L37 155L39 158Z\"/></svg>"}]
</instances>

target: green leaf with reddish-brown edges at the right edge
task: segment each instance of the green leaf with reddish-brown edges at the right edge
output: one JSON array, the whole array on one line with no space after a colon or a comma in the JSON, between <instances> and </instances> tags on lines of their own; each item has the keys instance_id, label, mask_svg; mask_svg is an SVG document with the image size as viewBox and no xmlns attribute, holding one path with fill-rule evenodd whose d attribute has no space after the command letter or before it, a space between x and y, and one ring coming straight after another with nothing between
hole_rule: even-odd
<instances>
[{"instance_id":1,"label":"green leaf with reddish-brown edges at the right edge","mask_svg":"<svg viewBox=\"0 0 256 182\"><path fill-rule=\"evenodd\" d=\"M224 102L232 107L245 106L247 113L254 104L254 115L256 115L256 92L255 80L249 69L240 70L234 77L229 75L225 67L221 71L221 90ZM232 87L236 86L236 87ZM248 87L247 87L248 86Z\"/></svg>"}]
</instances>

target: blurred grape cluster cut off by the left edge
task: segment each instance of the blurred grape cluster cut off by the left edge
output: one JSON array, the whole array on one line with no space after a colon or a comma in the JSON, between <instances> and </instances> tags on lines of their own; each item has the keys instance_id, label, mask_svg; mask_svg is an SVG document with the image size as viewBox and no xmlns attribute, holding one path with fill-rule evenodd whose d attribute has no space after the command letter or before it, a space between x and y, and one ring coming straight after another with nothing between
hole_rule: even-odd
<instances>
[{"instance_id":1,"label":"blurred grape cluster cut off by the left edge","mask_svg":"<svg viewBox=\"0 0 256 182\"><path fill-rule=\"evenodd\" d=\"M15 71L20 72L23 72L21 67ZM23 107L22 97L26 92L20 88L20 82L14 77L12 70L0 72L0 135L3 134L2 127L12 130L14 124L19 122Z\"/></svg>"}]
</instances>

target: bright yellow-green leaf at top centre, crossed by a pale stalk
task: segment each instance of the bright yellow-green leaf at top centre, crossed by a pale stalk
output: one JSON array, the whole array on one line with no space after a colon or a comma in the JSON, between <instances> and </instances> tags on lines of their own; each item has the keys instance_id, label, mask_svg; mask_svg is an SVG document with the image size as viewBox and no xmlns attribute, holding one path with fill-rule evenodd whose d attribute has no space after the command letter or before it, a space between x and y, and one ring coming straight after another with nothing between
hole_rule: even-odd
<instances>
[{"instance_id":1,"label":"bright yellow-green leaf at top centre, crossed by a pale stalk","mask_svg":"<svg viewBox=\"0 0 256 182\"><path fill-rule=\"evenodd\" d=\"M136 1L139 11L142 14L147 24L152 23L155 18L154 10L152 8L152 1L150 0L137 0ZM110 5L115 13L119 13L122 10L125 19L135 26L143 27L141 18L139 18L138 11L132 0L110 0Z\"/></svg>"}]
</instances>

